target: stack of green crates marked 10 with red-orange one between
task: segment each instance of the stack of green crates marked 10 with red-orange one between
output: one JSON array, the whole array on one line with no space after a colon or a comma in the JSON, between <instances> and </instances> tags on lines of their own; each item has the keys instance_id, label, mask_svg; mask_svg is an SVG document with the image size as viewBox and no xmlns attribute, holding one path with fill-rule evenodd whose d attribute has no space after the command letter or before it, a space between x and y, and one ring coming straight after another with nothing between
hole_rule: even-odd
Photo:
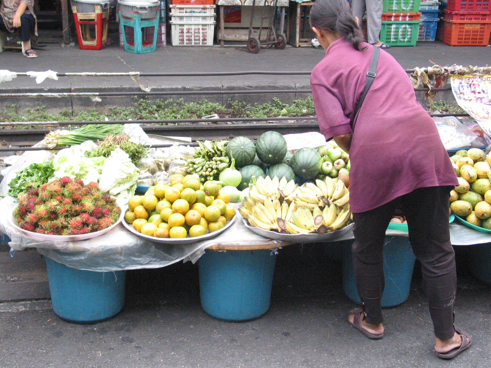
<instances>
[{"instance_id":1,"label":"stack of green crates marked 10 with red-orange one between","mask_svg":"<svg viewBox=\"0 0 491 368\"><path fill-rule=\"evenodd\" d=\"M390 46L416 46L420 0L383 0L380 40Z\"/></svg>"}]
</instances>

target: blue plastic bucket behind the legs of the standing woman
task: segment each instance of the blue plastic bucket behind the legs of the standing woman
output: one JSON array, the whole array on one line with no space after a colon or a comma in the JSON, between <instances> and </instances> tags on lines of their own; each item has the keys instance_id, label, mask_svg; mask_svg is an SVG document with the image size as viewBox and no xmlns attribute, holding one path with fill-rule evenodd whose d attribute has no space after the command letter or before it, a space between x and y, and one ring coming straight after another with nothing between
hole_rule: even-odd
<instances>
[{"instance_id":1,"label":"blue plastic bucket behind the legs of the standing woman","mask_svg":"<svg viewBox=\"0 0 491 368\"><path fill-rule=\"evenodd\" d=\"M383 272L385 275L385 289L382 294L383 308L395 307L408 299L414 261L414 254L407 237L385 237L383 246ZM361 304L355 284L351 245L345 246L343 252L343 290L348 298Z\"/></svg>"}]
</instances>

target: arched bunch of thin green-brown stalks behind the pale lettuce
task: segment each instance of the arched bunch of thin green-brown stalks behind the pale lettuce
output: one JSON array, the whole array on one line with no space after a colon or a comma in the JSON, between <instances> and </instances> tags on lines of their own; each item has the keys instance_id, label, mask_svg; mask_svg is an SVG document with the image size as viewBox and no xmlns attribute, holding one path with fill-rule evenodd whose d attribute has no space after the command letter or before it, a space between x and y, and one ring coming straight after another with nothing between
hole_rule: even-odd
<instances>
[{"instance_id":1,"label":"arched bunch of thin green-brown stalks behind the pale lettuce","mask_svg":"<svg viewBox=\"0 0 491 368\"><path fill-rule=\"evenodd\" d=\"M106 139L97 141L97 148L86 153L87 157L109 157L111 152L116 148L121 148L130 156L131 161L136 165L140 158L145 157L150 148L142 144L130 142L130 137L127 134L116 136L109 134Z\"/></svg>"}]
</instances>

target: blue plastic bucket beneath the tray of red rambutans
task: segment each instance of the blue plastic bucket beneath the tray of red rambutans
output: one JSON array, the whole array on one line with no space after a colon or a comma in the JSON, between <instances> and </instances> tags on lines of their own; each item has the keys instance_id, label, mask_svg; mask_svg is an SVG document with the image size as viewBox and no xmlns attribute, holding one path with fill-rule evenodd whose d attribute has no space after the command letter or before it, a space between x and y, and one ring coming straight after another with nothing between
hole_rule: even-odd
<instances>
[{"instance_id":1,"label":"blue plastic bucket beneath the tray of red rambutans","mask_svg":"<svg viewBox=\"0 0 491 368\"><path fill-rule=\"evenodd\" d=\"M123 309L126 271L82 271L45 260L53 310L62 319L95 323Z\"/></svg>"}]
</instances>

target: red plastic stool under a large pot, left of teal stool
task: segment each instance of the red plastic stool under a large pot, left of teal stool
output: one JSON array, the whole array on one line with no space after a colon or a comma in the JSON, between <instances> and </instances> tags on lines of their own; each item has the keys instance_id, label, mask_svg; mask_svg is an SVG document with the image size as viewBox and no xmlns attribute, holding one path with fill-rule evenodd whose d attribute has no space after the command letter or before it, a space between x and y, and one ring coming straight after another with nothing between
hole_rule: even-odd
<instances>
[{"instance_id":1,"label":"red plastic stool under a large pot, left of teal stool","mask_svg":"<svg viewBox=\"0 0 491 368\"><path fill-rule=\"evenodd\" d=\"M108 39L109 8L103 11L102 5L95 6L94 13L77 13L72 6L79 47L82 50L102 50Z\"/></svg>"}]
</instances>

